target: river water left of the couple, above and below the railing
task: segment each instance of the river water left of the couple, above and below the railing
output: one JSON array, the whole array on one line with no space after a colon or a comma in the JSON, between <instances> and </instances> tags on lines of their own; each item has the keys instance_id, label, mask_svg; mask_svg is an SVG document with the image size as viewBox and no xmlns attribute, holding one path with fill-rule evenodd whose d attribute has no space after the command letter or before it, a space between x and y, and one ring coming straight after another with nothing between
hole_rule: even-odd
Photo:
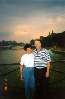
<instances>
[{"instance_id":1,"label":"river water left of the couple, above and below the railing","mask_svg":"<svg viewBox=\"0 0 65 99\"><path fill-rule=\"evenodd\" d=\"M25 53L23 49L19 50L0 50L0 80L8 79L10 84L15 84L18 82L19 71L17 69L19 65L14 65L13 63L20 63L21 56ZM9 64L9 65L2 65ZM11 65L12 64L12 65ZM8 73L10 72L10 73ZM7 74L8 73L8 74ZM5 75L7 74L7 75Z\"/></svg>"}]
</instances>

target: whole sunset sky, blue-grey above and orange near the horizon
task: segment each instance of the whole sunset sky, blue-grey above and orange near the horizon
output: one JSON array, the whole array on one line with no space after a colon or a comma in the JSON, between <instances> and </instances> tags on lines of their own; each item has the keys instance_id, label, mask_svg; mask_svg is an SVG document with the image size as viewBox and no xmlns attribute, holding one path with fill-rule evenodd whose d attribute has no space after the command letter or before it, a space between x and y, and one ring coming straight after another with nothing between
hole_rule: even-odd
<instances>
[{"instance_id":1,"label":"whole sunset sky, blue-grey above and orange near the horizon","mask_svg":"<svg viewBox=\"0 0 65 99\"><path fill-rule=\"evenodd\" d=\"M0 41L29 42L65 31L65 0L0 0Z\"/></svg>"}]
</instances>

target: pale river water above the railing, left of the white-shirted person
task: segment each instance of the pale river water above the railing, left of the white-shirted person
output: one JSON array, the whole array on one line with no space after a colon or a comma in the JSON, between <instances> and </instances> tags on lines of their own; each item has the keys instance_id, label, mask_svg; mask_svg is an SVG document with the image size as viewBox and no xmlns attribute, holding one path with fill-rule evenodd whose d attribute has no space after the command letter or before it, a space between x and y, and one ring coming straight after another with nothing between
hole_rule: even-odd
<instances>
[{"instance_id":1,"label":"pale river water above the railing, left of the white-shirted person","mask_svg":"<svg viewBox=\"0 0 65 99\"><path fill-rule=\"evenodd\" d=\"M24 54L23 49L19 50L0 50L0 64L17 63Z\"/></svg>"}]
</instances>

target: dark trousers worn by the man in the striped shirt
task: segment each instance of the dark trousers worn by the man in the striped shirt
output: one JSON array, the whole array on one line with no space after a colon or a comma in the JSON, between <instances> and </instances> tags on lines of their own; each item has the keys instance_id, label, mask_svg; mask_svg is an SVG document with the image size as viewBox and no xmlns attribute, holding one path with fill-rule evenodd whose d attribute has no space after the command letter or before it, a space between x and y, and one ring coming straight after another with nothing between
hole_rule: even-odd
<instances>
[{"instance_id":1,"label":"dark trousers worn by the man in the striped shirt","mask_svg":"<svg viewBox=\"0 0 65 99\"><path fill-rule=\"evenodd\" d=\"M36 96L40 99L47 99L48 79L45 77L46 71L46 67L34 69Z\"/></svg>"}]
</instances>

